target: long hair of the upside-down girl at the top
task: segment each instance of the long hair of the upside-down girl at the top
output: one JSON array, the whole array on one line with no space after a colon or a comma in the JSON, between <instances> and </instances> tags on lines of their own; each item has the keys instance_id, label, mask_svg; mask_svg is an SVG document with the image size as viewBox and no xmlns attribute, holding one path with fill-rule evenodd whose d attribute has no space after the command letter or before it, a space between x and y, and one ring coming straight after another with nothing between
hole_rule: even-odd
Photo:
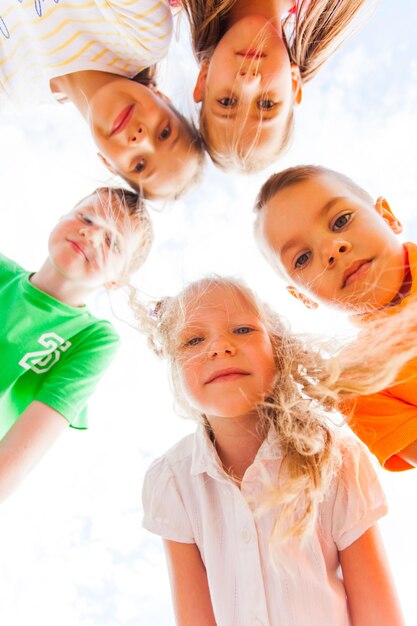
<instances>
[{"instance_id":1,"label":"long hair of the upside-down girl at the top","mask_svg":"<svg viewBox=\"0 0 417 626\"><path fill-rule=\"evenodd\" d=\"M199 64L210 61L213 51L227 31L227 16L239 0L182 0L190 22L194 55ZM368 0L368 4L369 4ZM365 0L301 0L295 15L288 15L282 22L283 41L290 62L298 66L303 83L309 81L321 66L347 39L355 26L355 18ZM269 158L254 160L242 154L237 145L232 153L219 152L210 140L205 122L204 105L200 111L200 132L207 151L222 169L238 169L244 172L259 171L278 159L290 143L293 129L293 111L286 120L283 137ZM237 144L237 142L236 142ZM252 144L252 148L254 144ZM250 152L251 150L249 150Z\"/></svg>"}]
</instances>

